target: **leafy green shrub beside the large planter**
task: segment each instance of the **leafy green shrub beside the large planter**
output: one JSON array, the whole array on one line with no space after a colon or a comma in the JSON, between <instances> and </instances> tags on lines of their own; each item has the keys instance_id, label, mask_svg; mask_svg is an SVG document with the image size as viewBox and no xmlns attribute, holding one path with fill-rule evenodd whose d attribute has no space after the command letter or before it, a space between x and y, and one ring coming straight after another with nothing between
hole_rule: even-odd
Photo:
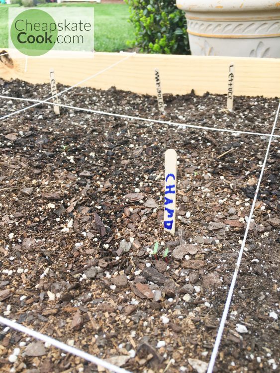
<instances>
[{"instance_id":1,"label":"leafy green shrub beside the large planter","mask_svg":"<svg viewBox=\"0 0 280 373\"><path fill-rule=\"evenodd\" d=\"M130 46L141 52L188 54L187 21L175 0L125 0L130 21L135 26L135 40Z\"/></svg>"}]
</instances>

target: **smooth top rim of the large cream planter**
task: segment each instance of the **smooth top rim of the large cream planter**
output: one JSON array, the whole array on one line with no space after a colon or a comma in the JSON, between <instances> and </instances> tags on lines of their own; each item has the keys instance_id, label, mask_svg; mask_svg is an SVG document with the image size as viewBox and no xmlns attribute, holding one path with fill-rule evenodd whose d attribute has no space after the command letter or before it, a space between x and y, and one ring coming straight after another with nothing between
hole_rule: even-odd
<instances>
[{"instance_id":1,"label":"smooth top rim of the large cream planter","mask_svg":"<svg viewBox=\"0 0 280 373\"><path fill-rule=\"evenodd\" d=\"M176 0L179 9L187 12L248 12L275 11L280 13L280 1L273 0Z\"/></svg>"}]
</instances>

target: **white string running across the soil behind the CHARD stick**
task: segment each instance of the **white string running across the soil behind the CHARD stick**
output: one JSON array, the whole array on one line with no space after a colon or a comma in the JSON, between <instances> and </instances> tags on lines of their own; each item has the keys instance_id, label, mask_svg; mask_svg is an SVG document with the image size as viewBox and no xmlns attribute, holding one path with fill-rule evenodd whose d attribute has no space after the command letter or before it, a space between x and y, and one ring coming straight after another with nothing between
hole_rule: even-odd
<instances>
[{"instance_id":1,"label":"white string running across the soil behind the CHARD stick","mask_svg":"<svg viewBox=\"0 0 280 373\"><path fill-rule=\"evenodd\" d=\"M166 121L166 120L143 118L141 116L132 116L132 115L125 115L125 114L110 113L110 112L107 112L107 111L87 109L87 108L84 108L84 107L66 105L66 104L63 104L63 103L46 102L46 100L42 101L42 100L37 100L37 99L33 99L33 98L11 97L11 96L4 96L4 95L0 95L0 98L21 100L21 101L30 101L30 102L38 102L37 104L43 103L43 104L57 105L57 106L67 107L69 109L87 111L87 112L90 112L90 113L95 113L95 114L100 114L100 115L116 116L116 117L125 118L125 119L141 120L141 121L151 122L151 123L168 124L168 125L178 126L178 127L187 127L187 128L203 129L203 130L218 131L218 132L243 133L243 134L255 135L255 136L270 136L269 133L238 131L238 130L227 129L227 128L196 126L194 124L176 123L176 122L171 122L171 121ZM31 107L31 106L29 106L29 107ZM13 112L13 113L15 113L15 112ZM0 119L2 119L2 118L4 118L4 117L0 117ZM280 137L280 135L273 135L273 137Z\"/></svg>"}]
</instances>

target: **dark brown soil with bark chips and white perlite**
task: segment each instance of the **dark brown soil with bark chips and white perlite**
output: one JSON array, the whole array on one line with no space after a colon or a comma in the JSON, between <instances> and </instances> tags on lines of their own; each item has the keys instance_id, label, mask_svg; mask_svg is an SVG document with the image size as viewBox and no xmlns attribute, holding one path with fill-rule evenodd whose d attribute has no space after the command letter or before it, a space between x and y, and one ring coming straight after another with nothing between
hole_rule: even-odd
<instances>
[{"instance_id":1,"label":"dark brown soil with bark chips and white perlite","mask_svg":"<svg viewBox=\"0 0 280 373\"><path fill-rule=\"evenodd\" d=\"M43 99L50 88L0 81L0 92ZM161 117L155 97L114 88L76 88L61 100L262 133L278 106L238 97L227 113L223 95L165 95ZM26 105L2 99L0 116ZM197 372L192 359L210 359L267 145L265 136L66 108L57 117L47 105L1 120L1 315L100 358L122 356L134 373ZM175 237L162 222L168 148L180 162ZM274 138L215 372L279 369L279 158ZM97 372L54 348L28 350L27 337L1 328L1 372Z\"/></svg>"}]
</instances>

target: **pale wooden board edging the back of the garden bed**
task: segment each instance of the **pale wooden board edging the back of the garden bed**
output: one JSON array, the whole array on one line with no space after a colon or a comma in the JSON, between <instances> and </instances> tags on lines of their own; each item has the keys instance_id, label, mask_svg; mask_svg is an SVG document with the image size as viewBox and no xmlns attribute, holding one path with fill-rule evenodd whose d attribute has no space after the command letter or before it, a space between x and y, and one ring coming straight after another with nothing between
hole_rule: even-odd
<instances>
[{"instance_id":1,"label":"pale wooden board edging the back of the garden bed","mask_svg":"<svg viewBox=\"0 0 280 373\"><path fill-rule=\"evenodd\" d=\"M92 59L28 59L26 72L23 59L14 60L13 67L0 62L0 78L18 78L33 84L49 83L49 71L53 67L56 81L72 86L126 55L97 52ZM85 85L102 90L115 86L120 90L155 95L154 71L158 68L163 93L186 94L192 89L199 95L227 93L230 63L235 66L235 95L280 95L280 59L268 58L134 54Z\"/></svg>"}]
</instances>

